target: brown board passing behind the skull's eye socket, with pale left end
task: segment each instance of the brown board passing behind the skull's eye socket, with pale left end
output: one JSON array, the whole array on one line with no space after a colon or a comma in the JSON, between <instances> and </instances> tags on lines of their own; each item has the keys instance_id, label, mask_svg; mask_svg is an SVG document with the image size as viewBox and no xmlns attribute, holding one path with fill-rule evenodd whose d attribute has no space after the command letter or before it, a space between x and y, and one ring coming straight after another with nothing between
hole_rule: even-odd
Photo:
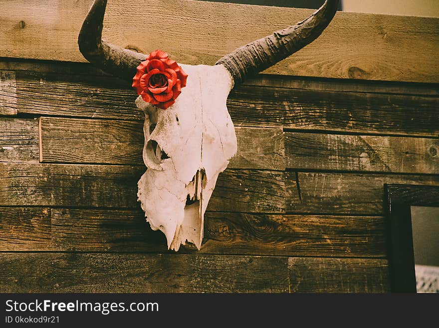
<instances>
[{"instance_id":1,"label":"brown board passing behind the skull's eye socket, with pale left end","mask_svg":"<svg viewBox=\"0 0 439 328\"><path fill-rule=\"evenodd\" d=\"M143 165L143 123L41 117L42 162ZM235 129L228 168L285 170L280 128Z\"/></svg>"}]
</instances>

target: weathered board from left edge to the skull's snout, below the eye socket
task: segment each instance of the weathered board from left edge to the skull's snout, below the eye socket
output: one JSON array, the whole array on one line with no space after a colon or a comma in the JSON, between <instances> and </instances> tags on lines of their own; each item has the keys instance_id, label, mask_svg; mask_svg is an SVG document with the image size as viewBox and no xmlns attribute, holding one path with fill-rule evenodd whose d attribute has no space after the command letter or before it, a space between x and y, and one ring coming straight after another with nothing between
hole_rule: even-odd
<instances>
[{"instance_id":1,"label":"weathered board from left edge to the skull's snout, below the eye socket","mask_svg":"<svg viewBox=\"0 0 439 328\"><path fill-rule=\"evenodd\" d=\"M0 164L0 205L138 207L145 168L116 165Z\"/></svg>"}]
</instances>

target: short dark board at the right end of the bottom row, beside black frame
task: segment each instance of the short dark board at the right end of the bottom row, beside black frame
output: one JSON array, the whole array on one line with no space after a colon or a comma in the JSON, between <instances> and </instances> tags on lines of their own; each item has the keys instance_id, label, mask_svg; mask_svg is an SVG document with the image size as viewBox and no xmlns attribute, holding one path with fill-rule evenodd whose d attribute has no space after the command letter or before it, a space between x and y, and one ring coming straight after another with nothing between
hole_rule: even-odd
<instances>
[{"instance_id":1,"label":"short dark board at the right end of the bottom row, beside black frame","mask_svg":"<svg viewBox=\"0 0 439 328\"><path fill-rule=\"evenodd\" d=\"M387 260L289 258L291 293L388 293Z\"/></svg>"}]
</instances>

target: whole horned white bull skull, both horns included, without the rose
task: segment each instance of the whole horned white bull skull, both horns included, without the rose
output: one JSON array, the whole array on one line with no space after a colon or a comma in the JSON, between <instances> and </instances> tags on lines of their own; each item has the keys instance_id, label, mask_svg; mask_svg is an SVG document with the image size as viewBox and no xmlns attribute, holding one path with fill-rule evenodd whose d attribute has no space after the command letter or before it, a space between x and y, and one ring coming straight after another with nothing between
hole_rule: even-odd
<instances>
[{"instance_id":1,"label":"whole horned white bull skull, both horns included, without the rose","mask_svg":"<svg viewBox=\"0 0 439 328\"><path fill-rule=\"evenodd\" d=\"M79 33L79 49L101 69L131 82L146 55L101 40L106 2L94 1ZM148 167L138 183L138 199L151 228L166 235L169 249L178 251L186 241L201 247L209 199L237 148L226 107L233 85L312 42L337 7L338 0L326 0L297 25L240 47L214 66L181 65L189 75L187 85L167 109L137 98L145 112L143 159Z\"/></svg>"}]
</instances>

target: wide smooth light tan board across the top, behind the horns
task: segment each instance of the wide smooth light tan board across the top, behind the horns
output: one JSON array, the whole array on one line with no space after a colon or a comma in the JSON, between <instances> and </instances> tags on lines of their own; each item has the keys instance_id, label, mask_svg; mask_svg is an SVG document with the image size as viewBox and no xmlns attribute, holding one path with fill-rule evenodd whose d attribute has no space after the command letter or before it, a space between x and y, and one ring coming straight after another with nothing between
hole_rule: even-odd
<instances>
[{"instance_id":1,"label":"wide smooth light tan board across the top, behind the horns","mask_svg":"<svg viewBox=\"0 0 439 328\"><path fill-rule=\"evenodd\" d=\"M76 40L91 2L1 1L0 56L84 61ZM148 14L138 15L139 8ZM146 53L166 49L183 63L213 64L313 11L204 1L114 0L108 3L103 37ZM151 24L161 26L162 33L149 33ZM268 72L438 82L438 29L438 18L338 12L315 42Z\"/></svg>"}]
</instances>

